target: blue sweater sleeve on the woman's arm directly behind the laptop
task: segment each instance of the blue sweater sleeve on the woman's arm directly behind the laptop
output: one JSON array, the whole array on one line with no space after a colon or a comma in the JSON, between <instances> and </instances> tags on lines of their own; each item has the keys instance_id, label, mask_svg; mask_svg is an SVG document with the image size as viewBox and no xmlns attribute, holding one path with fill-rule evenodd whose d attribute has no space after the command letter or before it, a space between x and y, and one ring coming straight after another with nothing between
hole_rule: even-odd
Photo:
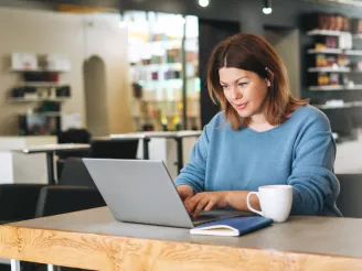
<instances>
[{"instance_id":1,"label":"blue sweater sleeve on the woman's arm directly behind the laptop","mask_svg":"<svg viewBox=\"0 0 362 271\"><path fill-rule=\"evenodd\" d=\"M204 127L198 142L192 148L190 162L185 164L175 178L175 186L189 185L194 193L204 191L207 147L210 142L207 127L209 124Z\"/></svg>"}]
</instances>

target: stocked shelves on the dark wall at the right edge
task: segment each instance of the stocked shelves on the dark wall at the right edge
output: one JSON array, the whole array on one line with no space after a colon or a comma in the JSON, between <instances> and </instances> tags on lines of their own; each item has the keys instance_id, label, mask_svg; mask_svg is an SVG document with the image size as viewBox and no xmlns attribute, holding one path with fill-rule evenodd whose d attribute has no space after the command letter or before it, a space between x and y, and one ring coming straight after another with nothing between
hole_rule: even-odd
<instances>
[{"instance_id":1,"label":"stocked shelves on the dark wall at the right edge","mask_svg":"<svg viewBox=\"0 0 362 271\"><path fill-rule=\"evenodd\" d=\"M362 126L362 34L353 34L362 31L362 19L326 12L305 19L312 30L304 42L304 97L326 113L333 133L349 137Z\"/></svg>"}]
</instances>

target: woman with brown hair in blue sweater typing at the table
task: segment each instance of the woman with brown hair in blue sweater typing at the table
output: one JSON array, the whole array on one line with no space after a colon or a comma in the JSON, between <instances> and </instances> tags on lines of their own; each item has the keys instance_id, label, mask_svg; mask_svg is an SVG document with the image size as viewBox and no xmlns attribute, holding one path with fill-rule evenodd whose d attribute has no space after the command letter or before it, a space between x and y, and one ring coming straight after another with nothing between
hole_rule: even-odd
<instances>
[{"instance_id":1,"label":"woman with brown hair in blue sweater typing at the table","mask_svg":"<svg viewBox=\"0 0 362 271\"><path fill-rule=\"evenodd\" d=\"M294 215L341 216L336 206L336 143L328 118L291 97L287 71L264 39L239 33L221 42L207 66L222 111L207 123L175 180L190 214L248 210L262 185L292 186ZM252 206L259 208L257 197Z\"/></svg>"}]
</instances>

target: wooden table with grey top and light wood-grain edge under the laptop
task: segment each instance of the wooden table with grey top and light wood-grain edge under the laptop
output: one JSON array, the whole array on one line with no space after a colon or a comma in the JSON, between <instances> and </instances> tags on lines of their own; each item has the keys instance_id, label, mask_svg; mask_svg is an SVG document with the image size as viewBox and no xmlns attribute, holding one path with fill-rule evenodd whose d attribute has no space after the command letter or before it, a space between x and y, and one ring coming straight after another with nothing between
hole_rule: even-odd
<instances>
[{"instance_id":1,"label":"wooden table with grey top and light wood-grain edge under the laptop","mask_svg":"<svg viewBox=\"0 0 362 271\"><path fill-rule=\"evenodd\" d=\"M0 258L93 270L362 270L362 219L290 217L243 237L124 224L107 207L0 226Z\"/></svg>"}]
</instances>

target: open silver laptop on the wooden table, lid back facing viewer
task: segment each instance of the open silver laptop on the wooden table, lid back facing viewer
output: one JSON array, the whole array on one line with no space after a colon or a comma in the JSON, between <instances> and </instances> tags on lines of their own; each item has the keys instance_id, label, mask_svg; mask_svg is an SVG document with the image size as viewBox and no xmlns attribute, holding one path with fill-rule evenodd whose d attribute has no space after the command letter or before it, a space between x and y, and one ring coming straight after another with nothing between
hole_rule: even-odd
<instances>
[{"instance_id":1,"label":"open silver laptop on the wooden table, lid back facing viewer","mask_svg":"<svg viewBox=\"0 0 362 271\"><path fill-rule=\"evenodd\" d=\"M248 214L211 210L193 219L162 161L82 160L118 221L193 228L202 223Z\"/></svg>"}]
</instances>

